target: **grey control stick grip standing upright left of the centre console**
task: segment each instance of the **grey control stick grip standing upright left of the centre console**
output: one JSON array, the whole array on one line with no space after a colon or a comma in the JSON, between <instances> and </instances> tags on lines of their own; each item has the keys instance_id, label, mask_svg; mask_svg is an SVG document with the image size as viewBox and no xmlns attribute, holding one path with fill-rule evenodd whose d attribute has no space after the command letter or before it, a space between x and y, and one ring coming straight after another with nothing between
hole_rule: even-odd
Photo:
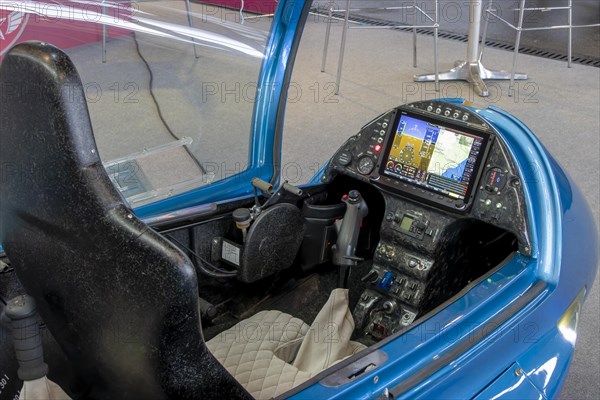
<instances>
[{"instance_id":1,"label":"grey control stick grip standing upright left of the centre console","mask_svg":"<svg viewBox=\"0 0 600 400\"><path fill-rule=\"evenodd\" d=\"M333 246L333 264L339 267L338 287L348 286L350 267L361 259L356 257L356 246L362 219L369 214L369 208L357 190L351 190L342 199L346 203L344 219L336 222L337 242Z\"/></svg>"}]
</instances>

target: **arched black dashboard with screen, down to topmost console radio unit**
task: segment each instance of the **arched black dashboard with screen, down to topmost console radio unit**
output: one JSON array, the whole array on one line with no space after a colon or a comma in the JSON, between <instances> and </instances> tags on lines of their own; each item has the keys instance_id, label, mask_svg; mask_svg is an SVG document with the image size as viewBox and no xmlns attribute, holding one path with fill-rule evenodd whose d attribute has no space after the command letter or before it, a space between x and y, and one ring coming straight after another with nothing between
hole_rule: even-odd
<instances>
[{"instance_id":1,"label":"arched black dashboard with screen, down to topmost console radio unit","mask_svg":"<svg viewBox=\"0 0 600 400\"><path fill-rule=\"evenodd\" d=\"M467 107L431 100L382 114L342 145L322 182L337 174L380 189L384 222L405 245L431 250L427 241L443 231L436 221L450 216L506 229L529 255L515 162L495 128Z\"/></svg>"}]
</instances>

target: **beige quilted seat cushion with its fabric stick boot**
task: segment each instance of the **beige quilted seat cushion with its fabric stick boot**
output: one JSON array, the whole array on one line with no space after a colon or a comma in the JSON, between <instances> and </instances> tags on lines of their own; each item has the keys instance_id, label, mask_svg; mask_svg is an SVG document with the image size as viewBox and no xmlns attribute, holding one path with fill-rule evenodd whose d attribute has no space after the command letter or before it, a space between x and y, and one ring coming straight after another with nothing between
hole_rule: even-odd
<instances>
[{"instance_id":1,"label":"beige quilted seat cushion with its fabric stick boot","mask_svg":"<svg viewBox=\"0 0 600 400\"><path fill-rule=\"evenodd\" d=\"M208 349L256 399L271 399L364 349L351 342L348 293L332 292L309 327L280 311L262 311L207 342Z\"/></svg>"}]
</instances>

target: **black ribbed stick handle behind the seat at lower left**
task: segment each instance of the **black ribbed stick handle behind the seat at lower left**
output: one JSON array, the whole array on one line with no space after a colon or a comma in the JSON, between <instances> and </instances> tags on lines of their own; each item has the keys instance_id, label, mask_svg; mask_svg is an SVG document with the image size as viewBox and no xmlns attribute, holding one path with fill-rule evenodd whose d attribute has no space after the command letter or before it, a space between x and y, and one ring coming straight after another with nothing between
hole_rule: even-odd
<instances>
[{"instance_id":1,"label":"black ribbed stick handle behind the seat at lower left","mask_svg":"<svg viewBox=\"0 0 600 400\"><path fill-rule=\"evenodd\" d=\"M19 379L32 381L43 378L48 374L48 365L44 362L35 300L28 295L15 297L6 306L6 316L11 320Z\"/></svg>"}]
</instances>

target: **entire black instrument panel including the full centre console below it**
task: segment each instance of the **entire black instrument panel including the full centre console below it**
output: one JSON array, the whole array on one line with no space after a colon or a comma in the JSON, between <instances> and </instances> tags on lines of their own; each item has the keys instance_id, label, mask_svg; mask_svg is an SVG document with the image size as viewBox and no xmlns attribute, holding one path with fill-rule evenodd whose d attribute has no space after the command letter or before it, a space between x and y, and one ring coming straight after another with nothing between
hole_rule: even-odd
<instances>
[{"instance_id":1,"label":"entire black instrument panel including the full centre console below it","mask_svg":"<svg viewBox=\"0 0 600 400\"><path fill-rule=\"evenodd\" d=\"M430 309L445 283L463 275L468 263L460 257L468 246L484 249L505 237L484 243L486 230L512 233L519 251L531 255L515 165L493 126L443 101L393 109L342 145L322 182L349 176L376 187L385 202L373 264L362 278L366 289L353 312L367 336L380 340ZM468 236L472 226L478 228Z\"/></svg>"}]
</instances>

